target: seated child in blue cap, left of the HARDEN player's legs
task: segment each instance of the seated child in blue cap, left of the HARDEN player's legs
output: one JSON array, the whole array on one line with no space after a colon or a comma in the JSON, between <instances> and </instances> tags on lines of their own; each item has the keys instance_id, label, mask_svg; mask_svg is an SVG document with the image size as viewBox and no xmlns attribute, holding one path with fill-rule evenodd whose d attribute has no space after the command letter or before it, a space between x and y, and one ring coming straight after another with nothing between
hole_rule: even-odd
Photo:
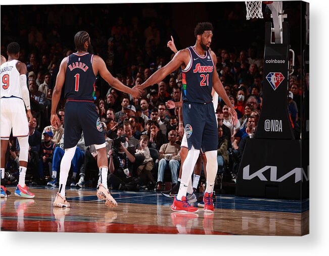
<instances>
[{"instance_id":1,"label":"seated child in blue cap, left of the HARDEN player's legs","mask_svg":"<svg viewBox=\"0 0 329 256\"><path fill-rule=\"evenodd\" d=\"M38 185L43 185L44 170L48 170L48 175L52 177L53 173L53 154L56 144L52 142L53 132L51 130L43 132L44 140L41 142L40 148L40 160L39 160L39 175L36 177L41 183ZM46 176L48 176L46 175Z\"/></svg>"}]
</instances>

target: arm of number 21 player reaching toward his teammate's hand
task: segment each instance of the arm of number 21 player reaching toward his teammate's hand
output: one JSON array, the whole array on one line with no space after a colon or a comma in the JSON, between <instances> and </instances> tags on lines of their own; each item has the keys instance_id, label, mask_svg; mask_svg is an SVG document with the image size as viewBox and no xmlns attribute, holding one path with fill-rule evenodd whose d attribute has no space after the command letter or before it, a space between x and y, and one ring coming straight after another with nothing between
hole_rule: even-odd
<instances>
[{"instance_id":1,"label":"arm of number 21 player reaching toward his teammate's hand","mask_svg":"<svg viewBox=\"0 0 329 256\"><path fill-rule=\"evenodd\" d=\"M190 54L187 49L180 50L166 66L156 71L141 85L142 89L161 82L167 75L178 69L180 65L184 64L185 61L188 62L189 58Z\"/></svg>"}]
</instances>

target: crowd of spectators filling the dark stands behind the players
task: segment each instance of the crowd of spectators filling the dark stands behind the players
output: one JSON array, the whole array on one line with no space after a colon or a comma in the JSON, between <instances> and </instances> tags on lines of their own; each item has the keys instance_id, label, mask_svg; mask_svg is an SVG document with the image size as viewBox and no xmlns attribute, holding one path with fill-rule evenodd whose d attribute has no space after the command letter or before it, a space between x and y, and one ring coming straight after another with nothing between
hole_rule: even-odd
<instances>
[{"instance_id":1,"label":"crowd of spectators filling the dark stands behind the players","mask_svg":"<svg viewBox=\"0 0 329 256\"><path fill-rule=\"evenodd\" d=\"M8 58L7 44L17 40L21 44L20 61L26 63L28 69L27 86L34 116L29 127L28 167L34 184L56 185L59 177L64 153L65 99L62 93L57 111L62 125L55 130L50 126L52 90L61 60L74 52L72 42L76 31L89 32L95 54L105 60L113 76L130 87L143 83L173 57L166 47L170 35L175 35L169 5L144 4L135 12L130 10L131 5L127 5L134 15L111 12L110 20L97 15L109 15L109 7L111 5L97 5L90 10L88 16L94 15L93 23L86 21L85 10L76 5L29 6L26 10L18 7L16 13L13 10L2 12L1 54ZM162 10L163 7L166 8ZM161 12L167 12L168 17L163 18ZM228 13L227 17L232 15ZM225 38L221 40L225 45ZM230 166L230 150L243 152L241 142L246 137L253 137L257 129L262 108L263 59L260 56L263 56L263 49L257 44L245 45L243 41L240 47L227 45L212 49L217 55L216 69L220 80L239 118L237 125L232 126L228 107L219 98L216 110L218 165L222 170ZM290 78L288 100L298 138L302 95L299 69L295 70ZM95 108L105 131L110 170L108 181L113 188L161 190L165 170L171 173L173 185L177 182L182 134L178 133L177 127L178 109L168 109L165 103L179 101L181 82L181 71L177 70L159 84L149 87L142 98L133 98L111 88L98 77ZM12 139L11 145L15 144L15 139ZM8 151L10 161L6 171L13 170L16 153L15 147ZM97 169L97 151L92 146L85 147L82 136L68 185L81 187L88 182L90 186L96 186Z\"/></svg>"}]
</instances>

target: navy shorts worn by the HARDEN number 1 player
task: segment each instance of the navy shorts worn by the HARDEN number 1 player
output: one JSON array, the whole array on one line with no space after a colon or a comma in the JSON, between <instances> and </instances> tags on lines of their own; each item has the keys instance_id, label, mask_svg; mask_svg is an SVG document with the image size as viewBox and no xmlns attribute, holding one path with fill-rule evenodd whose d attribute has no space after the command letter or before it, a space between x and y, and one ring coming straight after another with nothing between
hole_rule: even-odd
<instances>
[{"instance_id":1,"label":"navy shorts worn by the HARDEN number 1 player","mask_svg":"<svg viewBox=\"0 0 329 256\"><path fill-rule=\"evenodd\" d=\"M101 119L96 112L96 106L90 102L67 101L64 116L64 148L74 147L83 131L84 144L105 143Z\"/></svg>"}]
</instances>

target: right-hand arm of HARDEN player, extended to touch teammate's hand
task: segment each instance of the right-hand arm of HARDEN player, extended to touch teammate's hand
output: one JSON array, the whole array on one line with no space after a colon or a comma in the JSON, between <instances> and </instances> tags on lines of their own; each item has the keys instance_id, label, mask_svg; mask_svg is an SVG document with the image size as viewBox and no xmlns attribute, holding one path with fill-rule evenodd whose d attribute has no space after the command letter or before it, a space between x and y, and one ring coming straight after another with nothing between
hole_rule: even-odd
<instances>
[{"instance_id":1,"label":"right-hand arm of HARDEN player, extended to touch teammate's hand","mask_svg":"<svg viewBox=\"0 0 329 256\"><path fill-rule=\"evenodd\" d=\"M130 88L124 85L123 83L121 83L115 77L113 77L112 74L106 68L105 62L101 57L94 56L93 63L95 65L96 70L100 73L101 77L115 89L131 94L135 98L139 97L143 93L143 90L140 89L139 87L135 86L133 88Z\"/></svg>"}]
</instances>

